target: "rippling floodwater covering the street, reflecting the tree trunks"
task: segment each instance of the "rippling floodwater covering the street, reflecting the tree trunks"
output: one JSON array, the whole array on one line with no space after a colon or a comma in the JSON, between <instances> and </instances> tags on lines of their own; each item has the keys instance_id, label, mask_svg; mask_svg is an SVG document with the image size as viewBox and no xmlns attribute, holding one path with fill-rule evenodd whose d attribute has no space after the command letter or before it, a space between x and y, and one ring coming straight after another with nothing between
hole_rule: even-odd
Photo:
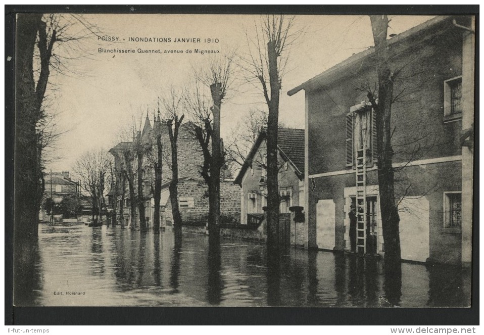
<instances>
[{"instance_id":1,"label":"rippling floodwater covering the street, reflecting the tree trunks","mask_svg":"<svg viewBox=\"0 0 484 335\"><path fill-rule=\"evenodd\" d=\"M401 285L382 261L291 249L267 262L265 245L222 238L208 259L208 236L171 231L41 224L16 305L321 306L470 305L470 275L452 267L402 264ZM16 283L17 284L17 283Z\"/></svg>"}]
</instances>

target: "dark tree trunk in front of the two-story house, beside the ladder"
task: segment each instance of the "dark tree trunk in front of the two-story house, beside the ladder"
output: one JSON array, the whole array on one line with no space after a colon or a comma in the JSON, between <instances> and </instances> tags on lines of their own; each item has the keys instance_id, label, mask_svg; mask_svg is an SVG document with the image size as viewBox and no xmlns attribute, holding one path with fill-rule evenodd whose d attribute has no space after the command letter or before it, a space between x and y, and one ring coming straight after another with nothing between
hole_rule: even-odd
<instances>
[{"instance_id":1,"label":"dark tree trunk in front of the two-story house, beside the ladder","mask_svg":"<svg viewBox=\"0 0 484 335\"><path fill-rule=\"evenodd\" d=\"M378 149L378 188L380 196L381 225L385 243L385 264L398 263L400 254L400 232L398 209L395 202L395 177L392 167L392 102L394 73L389 67L386 34L388 18L385 15L370 16L378 73L378 103L376 111ZM393 267L393 265L392 265Z\"/></svg>"}]
</instances>

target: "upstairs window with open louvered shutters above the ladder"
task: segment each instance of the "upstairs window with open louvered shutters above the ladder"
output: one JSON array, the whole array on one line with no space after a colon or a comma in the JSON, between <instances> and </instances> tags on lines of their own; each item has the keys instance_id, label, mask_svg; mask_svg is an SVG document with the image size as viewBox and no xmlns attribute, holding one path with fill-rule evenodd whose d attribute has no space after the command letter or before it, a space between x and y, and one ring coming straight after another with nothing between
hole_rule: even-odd
<instances>
[{"instance_id":1,"label":"upstairs window with open louvered shutters above the ladder","mask_svg":"<svg viewBox=\"0 0 484 335\"><path fill-rule=\"evenodd\" d=\"M353 106L346 115L346 166L355 164L355 156L366 150L366 162L376 163L376 112L369 103Z\"/></svg>"}]
</instances>

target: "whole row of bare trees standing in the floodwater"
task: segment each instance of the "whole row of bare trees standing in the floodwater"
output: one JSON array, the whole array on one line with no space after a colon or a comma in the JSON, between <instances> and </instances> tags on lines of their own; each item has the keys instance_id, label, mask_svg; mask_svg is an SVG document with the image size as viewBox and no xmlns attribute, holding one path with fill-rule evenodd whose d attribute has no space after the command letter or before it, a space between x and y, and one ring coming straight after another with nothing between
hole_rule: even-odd
<instances>
[{"instance_id":1,"label":"whole row of bare trees standing in the floodwater","mask_svg":"<svg viewBox=\"0 0 484 335\"><path fill-rule=\"evenodd\" d=\"M193 132L198 139L204 156L202 176L209 187L209 229L211 243L218 243L218 227L220 217L220 169L224 162L222 141L220 138L220 113L222 102L230 89L233 80L234 60L237 66L244 70L246 79L260 88L268 108L267 119L267 188L268 188L268 245L278 247L279 220L279 192L278 192L278 161L277 161L277 133L279 123L279 100L282 78L288 60L288 51L294 41L301 34L295 30L295 18L268 15L256 24L255 37L248 36L249 54L247 57L235 57L235 53L226 53L218 61L206 64L196 73L196 80L210 88L211 104L207 110L203 100L195 95L189 98L183 93L178 104L170 105L165 101L164 107L168 117L164 120L171 143L171 184L170 194L175 221L175 236L181 237L178 202L177 202L177 136L184 119L184 111L191 109L198 115ZM64 22L64 24L60 24ZM73 25L82 27L86 34L95 33L93 27L83 22L79 17L72 16L70 20L60 21L55 15L41 14L21 15L17 21L17 50L16 55L16 238L20 236L36 236L37 214L43 193L42 157L43 149L52 139L52 132L46 132L42 127L46 118L45 97L51 70L63 68L59 56L54 52L56 44L73 43L85 37L83 34L66 35ZM377 112L378 137L378 174L380 187L383 236L385 240L386 257L399 259L400 243L398 237L398 212L394 196L394 178L392 173L391 146L391 105L393 102L393 82L396 73L389 68L386 55L386 30L388 19L386 16L371 17L373 37L377 52L378 92L368 92L368 97ZM197 85L196 85L197 86ZM378 103L376 98L378 98ZM172 102L174 100L172 99ZM181 109L178 108L181 104ZM175 108L176 107L176 108ZM160 120L161 123L161 120ZM97 169L79 168L78 172L87 171L83 188L92 196L92 205L100 209L106 185L114 184L114 179L124 185L128 183L131 220L136 222L134 213L136 207L139 212L139 228L146 229L144 221L143 184L140 176L143 173L143 162L146 157L152 158L155 171L153 185L155 201L159 202L162 181L163 143L161 137L155 140L155 146L146 146L140 133L132 136L131 145L122 151L123 164L120 171L113 171L107 161L96 162ZM158 136L158 135L157 135ZM146 156L146 157L145 157ZM86 159L89 157L85 157ZM136 161L136 170L132 162ZM92 170L92 171L91 171ZM137 178L137 194L134 185ZM111 180L107 179L107 176ZM83 178L84 178L83 177ZM98 180L95 185L92 177ZM119 187L124 193L124 187ZM124 198L124 194L122 195ZM136 200L137 199L137 200ZM94 205L96 204L96 205ZM159 208L159 205L157 205ZM122 207L119 208L123 210ZM158 220L159 215L155 215ZM158 227L159 224L154 224Z\"/></svg>"}]
</instances>

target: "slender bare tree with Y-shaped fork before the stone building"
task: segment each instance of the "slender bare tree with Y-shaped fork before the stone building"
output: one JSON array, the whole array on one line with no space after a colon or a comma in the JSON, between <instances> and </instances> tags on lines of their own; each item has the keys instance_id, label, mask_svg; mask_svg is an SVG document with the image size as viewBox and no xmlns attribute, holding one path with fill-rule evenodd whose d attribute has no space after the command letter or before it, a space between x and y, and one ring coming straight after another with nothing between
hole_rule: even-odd
<instances>
[{"instance_id":1,"label":"slender bare tree with Y-shaped fork before the stone building","mask_svg":"<svg viewBox=\"0 0 484 335\"><path fill-rule=\"evenodd\" d=\"M181 214L178 206L178 133L180 125L183 122L185 115L183 114L183 95L177 92L174 87L171 87L169 94L163 98L163 106L166 111L165 123L168 128L168 135L170 136L171 147L171 182L170 202L173 214L173 224L175 233L175 246L181 245Z\"/></svg>"}]
</instances>

